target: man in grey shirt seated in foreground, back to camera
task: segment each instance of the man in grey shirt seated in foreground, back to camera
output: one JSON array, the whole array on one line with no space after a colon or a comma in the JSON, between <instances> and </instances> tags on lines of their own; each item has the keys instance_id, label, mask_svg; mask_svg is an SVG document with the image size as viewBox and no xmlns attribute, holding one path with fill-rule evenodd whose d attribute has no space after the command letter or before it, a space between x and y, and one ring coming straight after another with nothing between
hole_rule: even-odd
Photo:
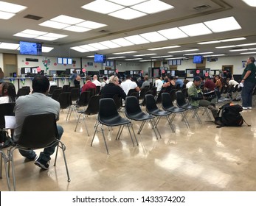
<instances>
[{"instance_id":1,"label":"man in grey shirt seated in foreground, back to camera","mask_svg":"<svg viewBox=\"0 0 256 206\"><path fill-rule=\"evenodd\" d=\"M15 104L15 130L13 135L13 141L18 141L21 135L21 129L24 123L24 119L30 115L37 115L42 113L54 113L56 120L59 119L60 103L54 99L46 96L49 90L49 80L43 75L37 75L32 80L32 93L27 96L20 96ZM44 126L43 126L44 127ZM57 125L59 138L63 134L63 128ZM33 129L33 128L31 128ZM50 155L55 152L55 146L51 146L44 149L41 152L38 159L35 161L35 165L44 169L49 168ZM19 150L22 156L27 157L27 160L35 160L37 154L35 151L23 151Z\"/></svg>"}]
</instances>

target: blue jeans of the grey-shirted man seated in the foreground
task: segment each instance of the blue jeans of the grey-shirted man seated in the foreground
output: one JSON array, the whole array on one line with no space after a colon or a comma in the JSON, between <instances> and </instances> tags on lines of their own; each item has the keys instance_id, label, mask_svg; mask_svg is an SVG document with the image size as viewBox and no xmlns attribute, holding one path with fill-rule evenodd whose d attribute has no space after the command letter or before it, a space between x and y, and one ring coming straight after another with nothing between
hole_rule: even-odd
<instances>
[{"instance_id":1,"label":"blue jeans of the grey-shirted man seated in the foreground","mask_svg":"<svg viewBox=\"0 0 256 206\"><path fill-rule=\"evenodd\" d=\"M61 127L60 125L57 125L57 129L58 129L59 140L60 140L64 130L63 130L63 127ZM47 148L44 148L44 152L40 153L39 158L41 160L46 161L46 162L51 160L50 156L55 152L55 147L56 146L57 146L57 144L55 144L53 146L50 146L50 147L47 147ZM35 155L36 155L34 150L24 151L24 150L19 149L18 151L21 153L21 155L23 157L27 157L28 159L31 159L31 160L34 159Z\"/></svg>"}]
</instances>

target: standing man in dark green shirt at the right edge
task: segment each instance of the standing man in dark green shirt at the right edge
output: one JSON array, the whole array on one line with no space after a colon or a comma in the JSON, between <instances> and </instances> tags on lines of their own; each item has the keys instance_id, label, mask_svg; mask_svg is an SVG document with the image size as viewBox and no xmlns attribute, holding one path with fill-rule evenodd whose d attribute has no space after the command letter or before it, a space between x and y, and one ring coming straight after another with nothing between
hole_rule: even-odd
<instances>
[{"instance_id":1,"label":"standing man in dark green shirt at the right edge","mask_svg":"<svg viewBox=\"0 0 256 206\"><path fill-rule=\"evenodd\" d=\"M243 71L242 74L242 83L243 83L243 89L242 89L242 106L243 110L252 110L252 91L255 87L255 72L256 72L256 66L255 66L255 57L249 57L247 59L247 65L246 68Z\"/></svg>"}]
</instances>

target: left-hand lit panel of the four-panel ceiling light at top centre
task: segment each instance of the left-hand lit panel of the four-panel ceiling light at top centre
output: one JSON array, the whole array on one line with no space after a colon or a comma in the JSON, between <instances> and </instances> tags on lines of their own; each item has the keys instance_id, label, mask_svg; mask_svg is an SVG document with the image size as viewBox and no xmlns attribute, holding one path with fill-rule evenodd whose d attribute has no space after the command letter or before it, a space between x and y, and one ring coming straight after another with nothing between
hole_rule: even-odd
<instances>
[{"instance_id":1,"label":"left-hand lit panel of the four-panel ceiling light at top centre","mask_svg":"<svg viewBox=\"0 0 256 206\"><path fill-rule=\"evenodd\" d=\"M89 4L83 5L82 8L85 10L91 10L92 12L95 12L95 13L108 14L108 13L113 13L114 11L117 11L117 10L122 10L125 7L119 4L114 4L109 1L96 0L96 1L92 1Z\"/></svg>"}]
</instances>

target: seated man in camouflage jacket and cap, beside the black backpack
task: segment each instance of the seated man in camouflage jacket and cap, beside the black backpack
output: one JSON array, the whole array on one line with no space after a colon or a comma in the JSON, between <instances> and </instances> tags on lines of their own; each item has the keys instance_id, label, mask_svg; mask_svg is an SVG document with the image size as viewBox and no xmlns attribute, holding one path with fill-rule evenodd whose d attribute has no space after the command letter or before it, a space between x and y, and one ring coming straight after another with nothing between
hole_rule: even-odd
<instances>
[{"instance_id":1,"label":"seated man in camouflage jacket and cap, beside the black backpack","mask_svg":"<svg viewBox=\"0 0 256 206\"><path fill-rule=\"evenodd\" d=\"M187 94L190 97L190 104L196 107L207 107L209 110L212 111L212 116L215 119L215 124L221 124L221 122L218 120L218 109L215 107L215 102L217 101L217 99L214 98L211 100L211 102L208 101L207 98L203 96L201 88L199 88L200 84L201 77L194 77L193 84L187 90Z\"/></svg>"}]
</instances>

